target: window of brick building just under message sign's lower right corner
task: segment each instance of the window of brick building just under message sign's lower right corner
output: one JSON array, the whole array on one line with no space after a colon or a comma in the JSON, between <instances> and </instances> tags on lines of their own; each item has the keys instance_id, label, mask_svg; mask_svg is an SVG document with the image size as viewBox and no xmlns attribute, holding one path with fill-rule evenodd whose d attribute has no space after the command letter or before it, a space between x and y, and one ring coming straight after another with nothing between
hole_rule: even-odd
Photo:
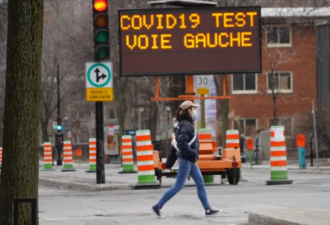
<instances>
[{"instance_id":1,"label":"window of brick building just under message sign's lower right corner","mask_svg":"<svg viewBox=\"0 0 330 225\"><path fill-rule=\"evenodd\" d=\"M233 74L233 93L257 93L257 74Z\"/></svg>"}]
</instances>

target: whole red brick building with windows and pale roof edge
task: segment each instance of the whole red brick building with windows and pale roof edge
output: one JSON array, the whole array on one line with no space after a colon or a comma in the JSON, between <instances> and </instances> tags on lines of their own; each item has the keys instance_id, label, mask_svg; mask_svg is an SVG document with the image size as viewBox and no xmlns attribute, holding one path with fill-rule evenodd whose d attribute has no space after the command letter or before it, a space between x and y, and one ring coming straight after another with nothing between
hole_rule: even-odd
<instances>
[{"instance_id":1,"label":"whole red brick building with windows and pale roof edge","mask_svg":"<svg viewBox=\"0 0 330 225\"><path fill-rule=\"evenodd\" d=\"M230 127L251 136L256 128L269 128L276 96L277 124L293 137L303 122L299 115L312 112L313 99L316 106L329 100L330 10L262 12L262 73L230 76Z\"/></svg>"}]
</instances>

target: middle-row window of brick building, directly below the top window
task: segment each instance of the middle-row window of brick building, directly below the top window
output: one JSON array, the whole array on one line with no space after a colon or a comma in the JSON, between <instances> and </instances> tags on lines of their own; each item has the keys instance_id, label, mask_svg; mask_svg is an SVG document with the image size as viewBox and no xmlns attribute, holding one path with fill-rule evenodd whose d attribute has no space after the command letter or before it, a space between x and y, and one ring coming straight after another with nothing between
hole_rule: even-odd
<instances>
[{"instance_id":1,"label":"middle-row window of brick building, directly below the top window","mask_svg":"<svg viewBox=\"0 0 330 225\"><path fill-rule=\"evenodd\" d=\"M267 91L280 91L281 93L292 93L292 73L291 72L274 72L268 73L267 76Z\"/></svg>"}]
</instances>

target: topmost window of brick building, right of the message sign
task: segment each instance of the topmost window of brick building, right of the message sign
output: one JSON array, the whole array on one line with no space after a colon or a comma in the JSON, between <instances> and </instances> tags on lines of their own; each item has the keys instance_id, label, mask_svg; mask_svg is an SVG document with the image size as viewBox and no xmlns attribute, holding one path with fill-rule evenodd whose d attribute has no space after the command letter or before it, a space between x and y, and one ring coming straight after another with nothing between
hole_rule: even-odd
<instances>
[{"instance_id":1,"label":"topmost window of brick building, right of the message sign","mask_svg":"<svg viewBox=\"0 0 330 225\"><path fill-rule=\"evenodd\" d=\"M268 47L292 46L291 27L290 26L267 27L267 46Z\"/></svg>"}]
</instances>

